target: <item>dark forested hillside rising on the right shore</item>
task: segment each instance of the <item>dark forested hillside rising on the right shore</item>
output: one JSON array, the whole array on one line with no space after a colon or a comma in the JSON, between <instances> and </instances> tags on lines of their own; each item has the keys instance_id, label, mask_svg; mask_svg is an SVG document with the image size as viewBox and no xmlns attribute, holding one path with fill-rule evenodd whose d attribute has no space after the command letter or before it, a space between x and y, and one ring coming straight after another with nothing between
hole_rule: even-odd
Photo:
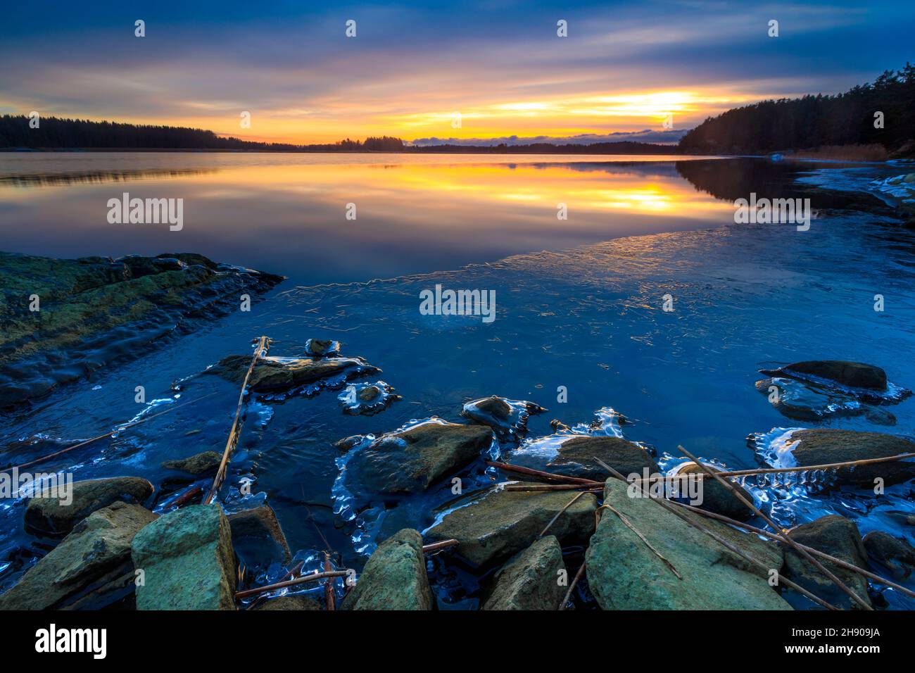
<instances>
[{"instance_id":1,"label":"dark forested hillside rising on the right shore","mask_svg":"<svg viewBox=\"0 0 915 673\"><path fill-rule=\"evenodd\" d=\"M883 128L875 128L875 113ZM837 95L762 101L719 114L680 140L684 154L763 154L823 146L878 144L911 154L915 66L886 71ZM908 147L906 147L908 145Z\"/></svg>"}]
</instances>

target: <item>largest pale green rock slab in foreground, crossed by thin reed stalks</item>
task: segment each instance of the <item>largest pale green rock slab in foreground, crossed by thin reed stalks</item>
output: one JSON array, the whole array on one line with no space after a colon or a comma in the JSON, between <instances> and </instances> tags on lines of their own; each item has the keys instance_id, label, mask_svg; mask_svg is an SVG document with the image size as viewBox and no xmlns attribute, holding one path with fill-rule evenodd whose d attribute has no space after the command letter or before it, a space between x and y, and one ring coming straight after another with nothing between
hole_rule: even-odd
<instances>
[{"instance_id":1,"label":"largest pale green rock slab in foreground, crossed by thin reed stalks","mask_svg":"<svg viewBox=\"0 0 915 673\"><path fill-rule=\"evenodd\" d=\"M683 576L676 575L619 516L603 510L586 553L587 583L604 610L791 610L764 572L687 524L650 498L630 497L608 479L604 503L632 526ZM778 546L718 521L684 512L767 568L779 570Z\"/></svg>"}]
</instances>

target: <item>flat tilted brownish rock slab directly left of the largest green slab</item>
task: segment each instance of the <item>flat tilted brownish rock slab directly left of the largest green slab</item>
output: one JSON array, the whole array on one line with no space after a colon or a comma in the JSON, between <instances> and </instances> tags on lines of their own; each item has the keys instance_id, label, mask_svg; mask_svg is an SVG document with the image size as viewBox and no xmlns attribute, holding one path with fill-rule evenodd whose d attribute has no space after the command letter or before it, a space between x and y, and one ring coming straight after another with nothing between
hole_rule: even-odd
<instances>
[{"instance_id":1,"label":"flat tilted brownish rock slab directly left of the largest green slab","mask_svg":"<svg viewBox=\"0 0 915 673\"><path fill-rule=\"evenodd\" d=\"M565 491L522 493L504 489L471 494L470 504L458 506L425 532L432 542L457 539L456 551L476 568L489 568L527 548L568 504ZM580 545L594 532L597 498L584 494L556 519L549 532L560 543Z\"/></svg>"}]
</instances>

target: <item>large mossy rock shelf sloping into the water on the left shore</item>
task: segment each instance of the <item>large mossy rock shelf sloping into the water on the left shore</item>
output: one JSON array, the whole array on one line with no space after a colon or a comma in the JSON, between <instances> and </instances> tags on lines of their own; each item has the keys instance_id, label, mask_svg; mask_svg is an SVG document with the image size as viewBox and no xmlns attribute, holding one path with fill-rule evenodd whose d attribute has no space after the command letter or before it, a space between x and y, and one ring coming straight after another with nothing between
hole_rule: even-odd
<instances>
[{"instance_id":1,"label":"large mossy rock shelf sloping into the water on the left shore","mask_svg":"<svg viewBox=\"0 0 915 673\"><path fill-rule=\"evenodd\" d=\"M282 277L202 255L51 259L0 253L0 407L143 353ZM33 310L38 297L40 310Z\"/></svg>"}]
</instances>

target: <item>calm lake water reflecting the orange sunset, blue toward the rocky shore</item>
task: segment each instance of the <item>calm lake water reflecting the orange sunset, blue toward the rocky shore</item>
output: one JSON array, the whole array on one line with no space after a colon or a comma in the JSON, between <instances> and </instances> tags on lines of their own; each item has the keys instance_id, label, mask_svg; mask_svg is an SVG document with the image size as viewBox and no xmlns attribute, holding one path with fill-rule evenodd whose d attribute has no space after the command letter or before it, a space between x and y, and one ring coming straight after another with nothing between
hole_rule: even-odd
<instances>
[{"instance_id":1,"label":"calm lake water reflecting the orange sunset, blue toward the rocky shore","mask_svg":"<svg viewBox=\"0 0 915 673\"><path fill-rule=\"evenodd\" d=\"M677 455L683 444L728 467L751 468L759 463L747 446L750 433L802 425L754 389L759 367L860 360L883 366L895 384L915 387L908 355L915 344L912 234L876 199L798 182L812 166L651 158L0 158L7 250L193 251L290 277L251 313L3 418L0 440L101 434L135 417L135 385L145 385L147 396L160 400L157 407L174 404L176 380L224 355L250 353L251 339L262 333L274 339L275 355L303 353L309 337L337 339L344 354L382 367L379 377L404 400L372 417L344 415L333 390L258 400L223 500L230 508L250 504L236 489L242 477L252 477L249 497L274 507L291 548L307 555L329 545L344 564L361 568L366 543L399 527L429 526L448 496L433 489L398 503L361 497L359 484L340 473L333 442L343 437L434 415L458 420L463 403L497 394L550 409L532 419L531 437L550 434L552 418L571 426L612 407L633 421L626 437L662 458ZM874 177L901 172L868 170ZM125 190L185 198L184 230L108 225L105 202ZM819 216L808 232L735 225L732 202L750 191L811 198ZM347 202L357 203L355 222L344 218ZM560 202L568 206L567 221L556 219ZM363 282L371 278L387 280ZM316 287L327 282L335 285ZM421 315L419 292L436 283L494 289L496 320ZM877 293L886 298L884 312L873 310ZM674 299L672 312L662 311L665 294ZM568 390L564 404L557 402L558 386ZM181 399L210 393L44 468L74 470L77 479L136 474L161 485L167 472L160 461L221 450L234 386L192 378ZM820 425L911 435L915 401L888 409L897 418L893 427L874 427L866 418ZM17 455L25 460L31 453ZM482 483L481 461L466 475ZM361 501L356 520L335 514L346 494ZM789 525L839 512L862 533L879 528L915 541L895 514L915 511L908 488L890 489L880 501L866 495L802 499L780 517ZM21 532L22 508L5 503L0 512L4 583L42 553ZM464 598L461 590L440 592L443 607ZM890 606L911 607L894 592L885 598Z\"/></svg>"}]
</instances>

